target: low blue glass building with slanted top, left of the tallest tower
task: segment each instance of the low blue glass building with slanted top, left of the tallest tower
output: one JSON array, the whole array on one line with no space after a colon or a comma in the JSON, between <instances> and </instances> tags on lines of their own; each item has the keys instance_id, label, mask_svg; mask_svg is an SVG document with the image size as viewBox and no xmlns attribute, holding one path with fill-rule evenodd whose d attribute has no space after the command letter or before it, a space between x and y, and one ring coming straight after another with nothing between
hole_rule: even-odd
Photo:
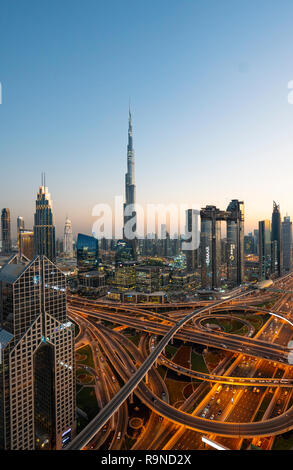
<instances>
[{"instance_id":1,"label":"low blue glass building with slanted top, left of the tallest tower","mask_svg":"<svg viewBox=\"0 0 293 470\"><path fill-rule=\"evenodd\" d=\"M79 233L76 242L77 268L79 272L92 271L99 265L99 244L95 237Z\"/></svg>"}]
</instances>

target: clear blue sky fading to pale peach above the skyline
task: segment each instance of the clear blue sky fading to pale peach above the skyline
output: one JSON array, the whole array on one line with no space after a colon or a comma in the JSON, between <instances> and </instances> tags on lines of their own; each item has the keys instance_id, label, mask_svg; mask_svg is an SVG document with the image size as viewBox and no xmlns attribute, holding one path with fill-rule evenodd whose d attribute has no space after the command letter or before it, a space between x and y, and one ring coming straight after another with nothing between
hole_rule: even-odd
<instances>
[{"instance_id":1,"label":"clear blue sky fading to pale peach above the skyline","mask_svg":"<svg viewBox=\"0 0 293 470\"><path fill-rule=\"evenodd\" d=\"M1 207L32 226L46 172L57 234L123 194L133 111L137 201L273 199L293 216L292 0L2 0Z\"/></svg>"}]
</instances>

